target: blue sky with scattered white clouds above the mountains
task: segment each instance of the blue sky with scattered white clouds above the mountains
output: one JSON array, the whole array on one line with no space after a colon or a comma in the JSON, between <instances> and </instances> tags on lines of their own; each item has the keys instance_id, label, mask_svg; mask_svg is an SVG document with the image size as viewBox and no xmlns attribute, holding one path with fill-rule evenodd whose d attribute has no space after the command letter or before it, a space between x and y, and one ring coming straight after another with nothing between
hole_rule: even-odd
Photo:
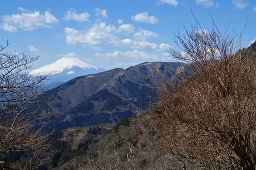
<instances>
[{"instance_id":1,"label":"blue sky with scattered white clouds above the mountains","mask_svg":"<svg viewBox=\"0 0 256 170\"><path fill-rule=\"evenodd\" d=\"M61 57L78 57L96 67L127 68L147 61L173 61L175 32L195 23L204 28L212 14L217 26L238 33L242 45L256 39L255 0L61 0L5 1L1 5L1 44L40 55L34 67Z\"/></svg>"}]
</instances>

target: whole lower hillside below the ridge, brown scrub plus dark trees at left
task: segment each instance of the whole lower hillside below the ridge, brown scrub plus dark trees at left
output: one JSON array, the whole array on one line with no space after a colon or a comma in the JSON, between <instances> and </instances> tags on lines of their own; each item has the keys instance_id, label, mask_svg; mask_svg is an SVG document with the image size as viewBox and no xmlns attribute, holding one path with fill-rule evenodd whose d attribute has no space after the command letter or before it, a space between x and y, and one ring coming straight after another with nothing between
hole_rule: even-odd
<instances>
[{"instance_id":1,"label":"whole lower hillside below the ridge, brown scrub plus dark trees at left","mask_svg":"<svg viewBox=\"0 0 256 170\"><path fill-rule=\"evenodd\" d=\"M113 128L60 131L53 140L47 169L199 169L166 154L161 133L148 124L152 112L126 118Z\"/></svg>"}]
</instances>

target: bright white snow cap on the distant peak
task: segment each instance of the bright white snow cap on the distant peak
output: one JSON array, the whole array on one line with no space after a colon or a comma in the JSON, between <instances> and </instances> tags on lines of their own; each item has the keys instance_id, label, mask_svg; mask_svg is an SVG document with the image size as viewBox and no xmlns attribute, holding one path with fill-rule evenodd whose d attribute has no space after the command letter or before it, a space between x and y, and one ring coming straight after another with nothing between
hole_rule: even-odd
<instances>
[{"instance_id":1,"label":"bright white snow cap on the distant peak","mask_svg":"<svg viewBox=\"0 0 256 170\"><path fill-rule=\"evenodd\" d=\"M45 65L43 67L40 67L39 69L30 71L30 74L31 75L52 75L52 74L61 73L64 70L70 70L73 67L80 67L81 69L98 70L97 67L89 65L88 63L81 61L79 58L63 57L49 65ZM69 73L71 72L69 71Z\"/></svg>"}]
</instances>

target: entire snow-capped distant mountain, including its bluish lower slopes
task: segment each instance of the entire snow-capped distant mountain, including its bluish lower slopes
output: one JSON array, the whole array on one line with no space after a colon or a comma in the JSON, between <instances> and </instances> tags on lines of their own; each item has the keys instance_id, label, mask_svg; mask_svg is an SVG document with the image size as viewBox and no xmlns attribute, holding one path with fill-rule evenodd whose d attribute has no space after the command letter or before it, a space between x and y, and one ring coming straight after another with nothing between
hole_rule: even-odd
<instances>
[{"instance_id":1,"label":"entire snow-capped distant mountain, including its bluish lower slopes","mask_svg":"<svg viewBox=\"0 0 256 170\"><path fill-rule=\"evenodd\" d=\"M77 76L100 73L101 71L105 70L89 65L79 58L63 57L49 65L30 71L30 74L48 75L46 86L53 88Z\"/></svg>"}]
</instances>

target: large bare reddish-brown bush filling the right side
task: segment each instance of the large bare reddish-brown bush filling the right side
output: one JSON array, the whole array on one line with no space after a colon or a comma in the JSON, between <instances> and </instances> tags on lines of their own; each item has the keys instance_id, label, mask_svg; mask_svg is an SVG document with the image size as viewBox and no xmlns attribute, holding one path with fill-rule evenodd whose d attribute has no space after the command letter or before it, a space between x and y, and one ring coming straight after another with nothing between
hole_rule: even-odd
<instances>
[{"instance_id":1,"label":"large bare reddish-brown bush filling the right side","mask_svg":"<svg viewBox=\"0 0 256 170\"><path fill-rule=\"evenodd\" d=\"M239 37L216 26L185 32L177 35L180 51L170 54L193 75L159 90L153 118L164 146L202 169L255 169L255 52L238 50Z\"/></svg>"}]
</instances>

